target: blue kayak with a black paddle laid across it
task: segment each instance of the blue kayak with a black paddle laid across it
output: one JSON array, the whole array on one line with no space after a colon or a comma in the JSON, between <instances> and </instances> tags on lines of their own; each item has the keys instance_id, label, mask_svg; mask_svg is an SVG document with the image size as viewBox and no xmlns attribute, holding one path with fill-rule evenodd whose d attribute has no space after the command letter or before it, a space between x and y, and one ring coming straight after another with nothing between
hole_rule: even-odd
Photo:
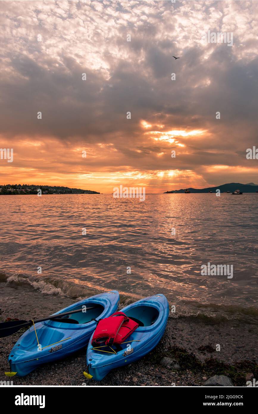
<instances>
[{"instance_id":1,"label":"blue kayak with a black paddle laid across it","mask_svg":"<svg viewBox=\"0 0 258 414\"><path fill-rule=\"evenodd\" d=\"M119 293L113 290L83 299L53 315L81 308L79 313L64 316L58 321L36 323L35 329L31 326L10 352L10 371L16 372L18 376L27 375L42 363L65 358L85 347L96 329L95 319L108 318L118 305Z\"/></svg>"}]
</instances>

